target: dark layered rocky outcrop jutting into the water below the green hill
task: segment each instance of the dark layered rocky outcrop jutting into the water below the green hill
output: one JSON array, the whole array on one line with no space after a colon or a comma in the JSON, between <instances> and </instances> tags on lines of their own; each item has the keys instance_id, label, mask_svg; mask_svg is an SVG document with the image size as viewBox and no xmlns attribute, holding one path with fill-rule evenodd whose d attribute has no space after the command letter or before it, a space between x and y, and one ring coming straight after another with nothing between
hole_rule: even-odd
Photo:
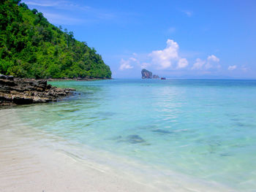
<instances>
[{"instance_id":1,"label":"dark layered rocky outcrop jutting into the water below the green hill","mask_svg":"<svg viewBox=\"0 0 256 192\"><path fill-rule=\"evenodd\" d=\"M73 88L56 88L47 80L20 79L0 74L0 105L57 101L73 91Z\"/></svg>"}]
</instances>

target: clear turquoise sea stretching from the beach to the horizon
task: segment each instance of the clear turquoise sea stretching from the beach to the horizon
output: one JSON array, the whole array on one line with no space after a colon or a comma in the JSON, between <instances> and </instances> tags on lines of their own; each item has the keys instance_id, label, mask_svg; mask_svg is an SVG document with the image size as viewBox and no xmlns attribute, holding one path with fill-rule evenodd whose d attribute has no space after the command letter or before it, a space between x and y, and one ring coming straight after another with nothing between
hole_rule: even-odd
<instances>
[{"instance_id":1,"label":"clear turquoise sea stretching from the beach to the horizon","mask_svg":"<svg viewBox=\"0 0 256 192\"><path fill-rule=\"evenodd\" d=\"M148 167L256 191L256 81L50 83L77 94L21 107L27 125Z\"/></svg>"}]
</instances>

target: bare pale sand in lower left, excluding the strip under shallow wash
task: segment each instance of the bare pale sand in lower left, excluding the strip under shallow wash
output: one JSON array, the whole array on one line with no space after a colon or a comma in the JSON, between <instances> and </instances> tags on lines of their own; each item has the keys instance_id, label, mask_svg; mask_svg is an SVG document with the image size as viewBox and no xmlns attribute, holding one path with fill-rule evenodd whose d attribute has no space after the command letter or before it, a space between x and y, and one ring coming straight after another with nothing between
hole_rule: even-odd
<instances>
[{"instance_id":1,"label":"bare pale sand in lower left, excluding the strip under shallow wash","mask_svg":"<svg viewBox=\"0 0 256 192\"><path fill-rule=\"evenodd\" d=\"M26 130L14 134L10 122L17 122L3 116L1 113L0 191L157 191L40 146L37 137L20 137Z\"/></svg>"}]
</instances>

